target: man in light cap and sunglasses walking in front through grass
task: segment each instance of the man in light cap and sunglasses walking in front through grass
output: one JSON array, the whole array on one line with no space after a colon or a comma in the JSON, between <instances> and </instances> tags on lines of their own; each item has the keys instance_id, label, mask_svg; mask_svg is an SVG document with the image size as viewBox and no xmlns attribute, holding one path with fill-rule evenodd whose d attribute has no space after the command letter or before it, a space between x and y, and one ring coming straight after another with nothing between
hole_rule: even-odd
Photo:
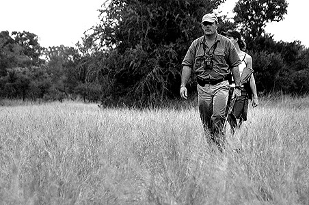
<instances>
[{"instance_id":1,"label":"man in light cap and sunglasses walking in front through grass","mask_svg":"<svg viewBox=\"0 0 309 205\"><path fill-rule=\"evenodd\" d=\"M217 33L218 20L215 14L202 18L204 36L194 40L183 59L180 96L187 99L186 83L191 72L198 81L198 108L206 136L219 150L224 146L225 135L221 132L226 118L228 102L228 76L232 72L235 89L232 98L241 95L239 55L232 42Z\"/></svg>"}]
</instances>

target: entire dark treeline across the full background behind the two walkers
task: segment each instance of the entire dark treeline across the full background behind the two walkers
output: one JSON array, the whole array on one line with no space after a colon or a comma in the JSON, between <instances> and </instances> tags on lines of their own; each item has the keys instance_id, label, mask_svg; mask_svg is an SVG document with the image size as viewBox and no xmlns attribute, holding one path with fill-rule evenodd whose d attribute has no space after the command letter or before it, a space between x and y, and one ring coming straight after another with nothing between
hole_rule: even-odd
<instances>
[{"instance_id":1,"label":"entire dark treeline across the full background behind the two walkers","mask_svg":"<svg viewBox=\"0 0 309 205\"><path fill-rule=\"evenodd\" d=\"M191 42L202 36L200 19L222 2L110 1L99 10L100 23L76 48L42 48L33 33L2 31L0 98L81 98L113 106L178 99L180 64ZM238 1L234 23L220 18L219 32L237 28L243 33L259 93L309 90L308 49L299 41L276 42L264 31L267 22L282 20L286 8L284 0ZM195 85L192 77L190 92Z\"/></svg>"}]
</instances>

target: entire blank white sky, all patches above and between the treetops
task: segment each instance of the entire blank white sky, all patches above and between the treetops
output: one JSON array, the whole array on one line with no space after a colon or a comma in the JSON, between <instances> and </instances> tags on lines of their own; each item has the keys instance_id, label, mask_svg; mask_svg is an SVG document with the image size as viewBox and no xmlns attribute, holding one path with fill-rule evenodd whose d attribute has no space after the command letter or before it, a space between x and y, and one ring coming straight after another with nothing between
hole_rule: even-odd
<instances>
[{"instance_id":1,"label":"entire blank white sky, all patches above and between the treetops","mask_svg":"<svg viewBox=\"0 0 309 205\"><path fill-rule=\"evenodd\" d=\"M100 6L106 0L1 0L0 31L29 31L39 38L40 46L75 46L83 32L99 22ZM232 15L237 0L226 0L222 14ZM287 0L284 20L269 23L267 33L276 41L300 40L309 47L306 33L309 0Z\"/></svg>"}]
</instances>

